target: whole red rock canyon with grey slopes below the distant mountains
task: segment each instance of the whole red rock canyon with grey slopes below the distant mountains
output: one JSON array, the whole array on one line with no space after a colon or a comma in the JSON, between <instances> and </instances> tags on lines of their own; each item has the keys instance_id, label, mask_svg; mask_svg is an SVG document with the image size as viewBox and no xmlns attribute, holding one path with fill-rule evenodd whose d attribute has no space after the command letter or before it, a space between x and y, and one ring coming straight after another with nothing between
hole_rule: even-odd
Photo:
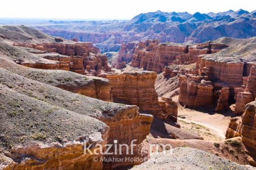
<instances>
[{"instance_id":1,"label":"whole red rock canyon with grey slopes below the distant mountains","mask_svg":"<svg viewBox=\"0 0 256 170\"><path fill-rule=\"evenodd\" d=\"M61 34L0 27L0 169L254 169L255 38L189 45ZM108 38L121 44L111 66L93 44ZM134 139L134 154L96 146ZM176 159L150 155L154 144L171 144ZM95 161L130 156L141 159Z\"/></svg>"}]
</instances>

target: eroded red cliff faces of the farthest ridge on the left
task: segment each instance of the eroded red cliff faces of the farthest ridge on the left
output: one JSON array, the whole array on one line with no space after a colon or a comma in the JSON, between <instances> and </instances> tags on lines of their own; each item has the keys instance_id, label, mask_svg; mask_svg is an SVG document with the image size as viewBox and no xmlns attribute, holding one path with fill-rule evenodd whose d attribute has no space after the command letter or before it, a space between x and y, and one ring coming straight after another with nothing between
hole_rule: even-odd
<instances>
[{"instance_id":1,"label":"eroded red cliff faces of the farthest ridge on the left","mask_svg":"<svg viewBox=\"0 0 256 170\"><path fill-rule=\"evenodd\" d=\"M60 67L57 69L70 70L72 72L84 74L84 70L87 65L94 70L96 75L101 70L109 71L108 59L106 56L101 55L99 49L94 47L92 43L40 43L40 44L26 44L26 43L14 43L14 46L27 47L38 49L39 51L47 52L47 55L41 55L48 60L60 61ZM52 56L51 54L52 53ZM59 53L60 56L57 56ZM66 57L65 57L66 56ZM69 58L67 57L69 56ZM22 63L27 67L49 69L45 65L31 65L30 63ZM63 68L65 65L65 68ZM53 67L50 67L50 69ZM56 68L53 68L56 69Z\"/></svg>"}]
</instances>

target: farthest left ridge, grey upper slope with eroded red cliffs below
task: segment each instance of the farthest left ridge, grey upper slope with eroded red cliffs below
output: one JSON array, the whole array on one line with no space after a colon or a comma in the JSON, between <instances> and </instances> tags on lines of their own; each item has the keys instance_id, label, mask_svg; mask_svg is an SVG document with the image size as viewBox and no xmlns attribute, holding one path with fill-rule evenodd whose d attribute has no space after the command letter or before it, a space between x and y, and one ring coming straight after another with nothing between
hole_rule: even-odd
<instances>
[{"instance_id":1,"label":"farthest left ridge, grey upper slope with eroded red cliffs below","mask_svg":"<svg viewBox=\"0 0 256 170\"><path fill-rule=\"evenodd\" d=\"M0 51L21 65L41 69L61 69L97 75L109 71L108 59L92 43L54 38L34 28L2 26Z\"/></svg>"}]
</instances>

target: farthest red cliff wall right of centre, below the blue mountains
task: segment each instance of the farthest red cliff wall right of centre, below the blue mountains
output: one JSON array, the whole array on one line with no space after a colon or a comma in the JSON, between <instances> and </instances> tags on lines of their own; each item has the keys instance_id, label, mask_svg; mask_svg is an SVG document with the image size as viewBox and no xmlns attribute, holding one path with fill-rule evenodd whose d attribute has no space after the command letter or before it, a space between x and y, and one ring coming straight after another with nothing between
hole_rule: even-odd
<instances>
[{"instance_id":1,"label":"farthest red cliff wall right of centre, below the blue mountains","mask_svg":"<svg viewBox=\"0 0 256 170\"><path fill-rule=\"evenodd\" d=\"M197 57L202 54L215 53L228 47L225 44L207 42L198 45L184 45L175 43L159 44L158 40L140 42L135 48L131 65L157 73L163 72L170 64L196 63Z\"/></svg>"}]
</instances>

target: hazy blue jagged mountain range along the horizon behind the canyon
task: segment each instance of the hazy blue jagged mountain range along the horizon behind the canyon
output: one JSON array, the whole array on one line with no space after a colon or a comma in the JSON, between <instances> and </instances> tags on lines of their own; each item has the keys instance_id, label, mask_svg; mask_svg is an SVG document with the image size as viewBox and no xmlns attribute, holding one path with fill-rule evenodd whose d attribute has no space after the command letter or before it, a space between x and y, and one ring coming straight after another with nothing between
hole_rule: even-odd
<instances>
[{"instance_id":1,"label":"hazy blue jagged mountain range along the horizon behind the canyon","mask_svg":"<svg viewBox=\"0 0 256 170\"><path fill-rule=\"evenodd\" d=\"M48 25L37 28L53 36L97 43L102 52L107 52L108 49L118 51L118 45L134 40L202 43L222 36L250 38L256 36L256 11L249 13L240 9L208 14L155 11L139 14L129 21L74 21L61 24L61 21L51 20Z\"/></svg>"}]
</instances>

